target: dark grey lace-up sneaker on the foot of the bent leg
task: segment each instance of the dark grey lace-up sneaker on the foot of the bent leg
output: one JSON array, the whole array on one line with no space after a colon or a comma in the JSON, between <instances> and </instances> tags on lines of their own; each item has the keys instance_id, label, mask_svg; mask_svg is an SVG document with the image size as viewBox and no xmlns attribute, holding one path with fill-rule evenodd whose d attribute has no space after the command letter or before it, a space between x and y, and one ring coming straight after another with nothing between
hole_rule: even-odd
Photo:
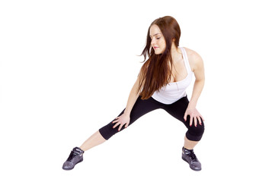
<instances>
[{"instance_id":1,"label":"dark grey lace-up sneaker on the foot of the bent leg","mask_svg":"<svg viewBox=\"0 0 256 182\"><path fill-rule=\"evenodd\" d=\"M201 163L198 161L197 156L194 154L194 150L182 148L182 159L190 165L190 168L194 171L201 171Z\"/></svg>"}]
</instances>

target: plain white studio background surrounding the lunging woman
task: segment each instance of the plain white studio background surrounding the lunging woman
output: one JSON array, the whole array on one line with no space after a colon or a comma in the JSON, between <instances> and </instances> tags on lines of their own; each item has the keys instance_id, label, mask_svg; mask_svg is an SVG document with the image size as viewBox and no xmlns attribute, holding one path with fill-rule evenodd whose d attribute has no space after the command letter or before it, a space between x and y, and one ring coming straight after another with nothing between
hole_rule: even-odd
<instances>
[{"instance_id":1,"label":"plain white studio background surrounding the lunging woman","mask_svg":"<svg viewBox=\"0 0 256 182\"><path fill-rule=\"evenodd\" d=\"M1 180L255 181L253 2L1 1ZM165 15L205 64L203 170L181 160L184 125L158 110L63 171L125 107L149 25Z\"/></svg>"}]
</instances>

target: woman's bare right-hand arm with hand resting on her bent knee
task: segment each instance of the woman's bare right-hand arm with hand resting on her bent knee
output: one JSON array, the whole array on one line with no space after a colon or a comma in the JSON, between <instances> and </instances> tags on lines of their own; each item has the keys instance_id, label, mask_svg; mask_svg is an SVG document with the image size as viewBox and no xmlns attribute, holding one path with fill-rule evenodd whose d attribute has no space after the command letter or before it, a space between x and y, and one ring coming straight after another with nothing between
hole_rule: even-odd
<instances>
[{"instance_id":1,"label":"woman's bare right-hand arm with hand resting on her bent knee","mask_svg":"<svg viewBox=\"0 0 256 182\"><path fill-rule=\"evenodd\" d=\"M197 127L197 120L199 121L199 124L202 124L201 119L204 121L202 115L200 115L199 111L197 111L196 108L197 100L199 99L204 86L204 67L203 59L200 57L200 55L197 54L197 52L191 53L190 60L192 65L191 68L192 71L194 71L196 80L194 82L193 93L189 105L187 106L187 110L184 115L184 120L186 121L187 115L190 115L190 126L192 126L194 119L194 125Z\"/></svg>"}]
</instances>

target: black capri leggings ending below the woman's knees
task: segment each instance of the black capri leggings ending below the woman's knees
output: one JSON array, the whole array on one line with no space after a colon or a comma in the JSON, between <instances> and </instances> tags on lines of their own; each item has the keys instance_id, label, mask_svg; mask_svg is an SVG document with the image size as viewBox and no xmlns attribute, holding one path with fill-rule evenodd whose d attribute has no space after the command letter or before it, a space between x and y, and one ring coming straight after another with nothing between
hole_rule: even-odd
<instances>
[{"instance_id":1,"label":"black capri leggings ending below the woman's knees","mask_svg":"<svg viewBox=\"0 0 256 182\"><path fill-rule=\"evenodd\" d=\"M199 141L203 136L204 124L202 121L202 125L197 124L197 127L195 127L194 124L192 124L192 126L190 127L189 115L187 116L187 121L184 121L184 114L187 109L188 103L189 101L187 99L187 96L184 96L183 98L179 99L177 102L172 103L171 105L165 105L161 102L156 101L152 97L146 100L142 100L141 96L139 96L139 98L133 105L133 109L130 113L130 124L133 124L133 122L140 118L142 115L145 115L150 111L154 111L155 109L162 108L165 109L165 111L167 111L174 118L177 118L179 121L181 121L187 127L186 137L188 140ZM123 115L123 111L120 113L120 115ZM112 137L115 133L118 132L118 127L113 127L114 124L111 121L109 124L107 124L104 127L101 127L101 129L99 130L102 137L104 137L105 140L110 139L110 137ZM124 128L125 127L123 126L121 130L123 130Z\"/></svg>"}]
</instances>

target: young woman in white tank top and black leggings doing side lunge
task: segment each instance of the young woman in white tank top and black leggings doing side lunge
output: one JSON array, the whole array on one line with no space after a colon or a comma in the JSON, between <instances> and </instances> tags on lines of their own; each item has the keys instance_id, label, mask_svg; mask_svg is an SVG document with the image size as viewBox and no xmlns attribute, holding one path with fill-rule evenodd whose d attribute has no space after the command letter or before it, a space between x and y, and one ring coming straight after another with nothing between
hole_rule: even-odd
<instances>
[{"instance_id":1,"label":"young woman in white tank top and black leggings doing side lunge","mask_svg":"<svg viewBox=\"0 0 256 182\"><path fill-rule=\"evenodd\" d=\"M146 62L130 91L126 108L114 121L89 137L80 148L75 147L64 162L63 169L71 170L82 162L86 150L104 143L149 111L162 108L187 127L182 159L191 169L201 170L193 149L204 131L203 117L196 108L204 85L203 60L197 52L179 47L180 36L181 30L174 17L160 17L152 22L142 52ZM186 89L193 74L196 80L188 101Z\"/></svg>"}]
</instances>

